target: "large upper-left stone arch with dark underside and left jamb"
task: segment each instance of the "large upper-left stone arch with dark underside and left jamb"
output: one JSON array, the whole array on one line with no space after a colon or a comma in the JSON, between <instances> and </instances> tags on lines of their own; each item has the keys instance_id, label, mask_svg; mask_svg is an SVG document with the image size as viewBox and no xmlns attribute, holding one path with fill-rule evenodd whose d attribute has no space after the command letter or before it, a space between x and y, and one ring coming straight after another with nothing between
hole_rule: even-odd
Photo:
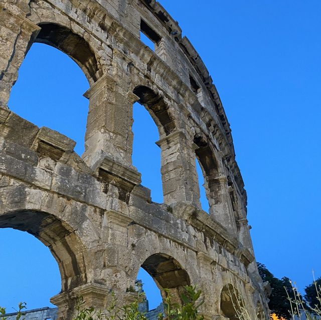
<instances>
[{"instance_id":1,"label":"large upper-left stone arch with dark underside and left jamb","mask_svg":"<svg viewBox=\"0 0 321 320\"><path fill-rule=\"evenodd\" d=\"M54 14L52 7L43 10L41 16L31 10L28 18L29 22L23 24L23 29L17 37L15 50L11 57L12 66L10 70L2 74L0 79L0 106L8 108L11 88L17 81L18 70L35 42L55 47L71 57L82 69L90 85L102 76L97 45L93 49L94 42L89 43L88 41L92 38L85 39L84 32L81 35L75 32L75 29L81 30L81 27L70 24L65 16Z\"/></svg>"}]
</instances>

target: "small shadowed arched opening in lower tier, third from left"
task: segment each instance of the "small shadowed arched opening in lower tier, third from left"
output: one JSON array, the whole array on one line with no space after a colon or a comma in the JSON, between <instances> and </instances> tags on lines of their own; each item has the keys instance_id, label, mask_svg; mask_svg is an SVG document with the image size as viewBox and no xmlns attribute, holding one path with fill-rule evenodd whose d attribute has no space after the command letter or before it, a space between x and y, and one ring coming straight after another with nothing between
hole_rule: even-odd
<instances>
[{"instance_id":1,"label":"small shadowed arched opening in lower tier, third from left","mask_svg":"<svg viewBox=\"0 0 321 320\"><path fill-rule=\"evenodd\" d=\"M238 320L242 306L238 291L232 284L226 284L221 291L221 312L230 320Z\"/></svg>"}]
</instances>

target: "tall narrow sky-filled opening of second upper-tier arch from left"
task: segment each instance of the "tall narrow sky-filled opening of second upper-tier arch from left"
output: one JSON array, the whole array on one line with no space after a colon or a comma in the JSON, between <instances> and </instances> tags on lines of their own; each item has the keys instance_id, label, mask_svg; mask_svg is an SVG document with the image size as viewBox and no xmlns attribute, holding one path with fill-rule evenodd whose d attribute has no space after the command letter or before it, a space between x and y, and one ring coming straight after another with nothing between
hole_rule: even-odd
<instances>
[{"instance_id":1,"label":"tall narrow sky-filled opening of second upper-tier arch from left","mask_svg":"<svg viewBox=\"0 0 321 320\"><path fill-rule=\"evenodd\" d=\"M138 103L133 105L133 119L132 163L141 173L141 184L151 190L151 199L162 203L161 149L155 144L159 139L157 127Z\"/></svg>"}]
</instances>

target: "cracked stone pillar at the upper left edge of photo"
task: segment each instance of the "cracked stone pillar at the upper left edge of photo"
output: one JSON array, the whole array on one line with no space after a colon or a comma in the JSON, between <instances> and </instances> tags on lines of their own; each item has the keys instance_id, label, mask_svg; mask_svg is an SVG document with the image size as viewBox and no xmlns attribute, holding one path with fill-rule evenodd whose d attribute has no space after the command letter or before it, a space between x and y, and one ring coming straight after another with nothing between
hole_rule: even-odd
<instances>
[{"instance_id":1,"label":"cracked stone pillar at the upper left edge of photo","mask_svg":"<svg viewBox=\"0 0 321 320\"><path fill-rule=\"evenodd\" d=\"M0 4L0 107L2 108L8 108L11 88L18 78L18 69L41 29L24 18L26 14L22 8L29 9L22 1L17 2L17 7L8 3Z\"/></svg>"}]
</instances>

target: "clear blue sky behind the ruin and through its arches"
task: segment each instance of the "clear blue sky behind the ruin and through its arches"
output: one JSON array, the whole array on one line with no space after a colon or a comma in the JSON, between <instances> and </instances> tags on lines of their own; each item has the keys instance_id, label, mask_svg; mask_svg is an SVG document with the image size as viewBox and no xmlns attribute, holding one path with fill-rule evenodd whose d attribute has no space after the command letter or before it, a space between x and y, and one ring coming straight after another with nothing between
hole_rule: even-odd
<instances>
[{"instance_id":1,"label":"clear blue sky behind the ruin and through its arches","mask_svg":"<svg viewBox=\"0 0 321 320\"><path fill-rule=\"evenodd\" d=\"M161 4L199 52L223 102L248 193L256 258L302 289L311 282L312 269L321 275L321 2ZM87 88L81 70L67 56L36 44L21 68L10 107L76 140L81 153L88 111L82 94ZM139 105L134 106L134 121L133 162L153 200L162 201L156 128ZM150 151L140 151L142 144ZM144 161L155 164L150 172ZM49 305L60 280L48 249L23 232L1 229L0 252L0 305L8 311L20 300L30 308Z\"/></svg>"}]
</instances>

